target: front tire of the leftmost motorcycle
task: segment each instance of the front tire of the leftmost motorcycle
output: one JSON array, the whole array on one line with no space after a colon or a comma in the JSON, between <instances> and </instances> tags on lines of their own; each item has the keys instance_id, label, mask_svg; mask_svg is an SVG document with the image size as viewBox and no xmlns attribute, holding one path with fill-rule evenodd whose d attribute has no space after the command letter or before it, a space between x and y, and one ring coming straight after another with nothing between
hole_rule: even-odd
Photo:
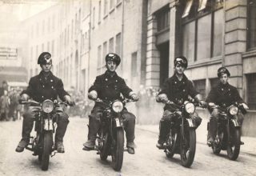
<instances>
[{"instance_id":1,"label":"front tire of the leftmost motorcycle","mask_svg":"<svg viewBox=\"0 0 256 176\"><path fill-rule=\"evenodd\" d=\"M49 159L51 154L51 149L53 146L53 132L45 131L43 144L42 144L42 162L41 162L41 169L48 170L49 166Z\"/></svg>"}]
</instances>

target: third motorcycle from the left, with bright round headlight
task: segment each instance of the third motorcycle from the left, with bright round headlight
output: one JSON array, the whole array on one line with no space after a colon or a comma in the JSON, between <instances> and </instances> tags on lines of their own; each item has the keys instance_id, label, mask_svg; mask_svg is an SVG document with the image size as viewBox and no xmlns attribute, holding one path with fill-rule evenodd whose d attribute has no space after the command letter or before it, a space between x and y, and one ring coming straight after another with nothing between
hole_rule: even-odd
<instances>
[{"instance_id":1,"label":"third motorcycle from the left, with bright round headlight","mask_svg":"<svg viewBox=\"0 0 256 176\"><path fill-rule=\"evenodd\" d=\"M199 105L192 100L185 101L181 106L170 101L166 104L174 109L175 115L170 121L169 134L167 134L162 150L165 151L167 158L180 154L182 166L190 167L194 162L196 150L195 130L200 125L196 123L194 111Z\"/></svg>"}]
</instances>

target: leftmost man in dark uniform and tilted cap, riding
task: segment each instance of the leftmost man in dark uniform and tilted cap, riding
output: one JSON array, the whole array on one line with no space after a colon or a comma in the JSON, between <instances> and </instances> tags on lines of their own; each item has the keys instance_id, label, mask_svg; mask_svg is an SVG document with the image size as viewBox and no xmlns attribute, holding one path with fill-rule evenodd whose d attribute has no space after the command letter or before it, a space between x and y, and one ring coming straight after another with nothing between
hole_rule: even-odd
<instances>
[{"instance_id":1,"label":"leftmost man in dark uniform and tilted cap, riding","mask_svg":"<svg viewBox=\"0 0 256 176\"><path fill-rule=\"evenodd\" d=\"M62 80L57 78L50 71L52 68L51 54L43 52L39 55L38 64L40 64L42 71L37 76L30 78L29 86L21 93L22 100L27 101L32 98L34 101L43 102L46 99L54 101L58 97L73 104L70 95L64 90ZM63 137L66 133L66 127L69 123L68 115L65 112L58 113L58 127L55 134L55 146L59 153L64 153ZM30 142L30 132L34 124L34 108L33 106L26 107L26 112L23 114L22 124L22 140L18 143L17 152L22 152Z\"/></svg>"}]
</instances>

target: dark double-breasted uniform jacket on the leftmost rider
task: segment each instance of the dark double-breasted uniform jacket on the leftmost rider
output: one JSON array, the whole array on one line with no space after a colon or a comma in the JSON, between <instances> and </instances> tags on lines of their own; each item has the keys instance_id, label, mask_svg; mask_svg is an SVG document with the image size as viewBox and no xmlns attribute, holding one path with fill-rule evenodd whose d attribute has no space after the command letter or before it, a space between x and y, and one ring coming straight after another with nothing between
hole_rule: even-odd
<instances>
[{"instance_id":1,"label":"dark double-breasted uniform jacket on the leftmost rider","mask_svg":"<svg viewBox=\"0 0 256 176\"><path fill-rule=\"evenodd\" d=\"M44 78L42 71L40 74L30 78L29 86L22 94L28 94L34 101L43 102L46 99L55 100L58 97L64 101L64 96L69 95L63 87L62 80L50 72L47 78Z\"/></svg>"}]
</instances>

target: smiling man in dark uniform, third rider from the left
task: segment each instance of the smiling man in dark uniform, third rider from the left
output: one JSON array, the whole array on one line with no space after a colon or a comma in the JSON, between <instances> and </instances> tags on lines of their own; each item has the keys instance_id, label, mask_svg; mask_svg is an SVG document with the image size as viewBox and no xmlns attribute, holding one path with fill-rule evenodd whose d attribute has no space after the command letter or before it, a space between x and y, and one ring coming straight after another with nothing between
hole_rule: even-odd
<instances>
[{"instance_id":1,"label":"smiling man in dark uniform, third rider from the left","mask_svg":"<svg viewBox=\"0 0 256 176\"><path fill-rule=\"evenodd\" d=\"M187 67L187 59L180 56L174 59L174 75L164 82L162 90L158 93L157 102L174 102L182 105L184 101L188 100L189 95L197 102L205 105L206 102L202 101L202 96L194 89L192 82L186 78L184 70ZM159 123L159 138L157 147L162 149L163 143L166 141L166 136L170 130L170 121L172 118L180 114L175 114L174 109L170 105L164 107L164 113ZM195 117L198 126L201 124L202 119Z\"/></svg>"}]
</instances>

